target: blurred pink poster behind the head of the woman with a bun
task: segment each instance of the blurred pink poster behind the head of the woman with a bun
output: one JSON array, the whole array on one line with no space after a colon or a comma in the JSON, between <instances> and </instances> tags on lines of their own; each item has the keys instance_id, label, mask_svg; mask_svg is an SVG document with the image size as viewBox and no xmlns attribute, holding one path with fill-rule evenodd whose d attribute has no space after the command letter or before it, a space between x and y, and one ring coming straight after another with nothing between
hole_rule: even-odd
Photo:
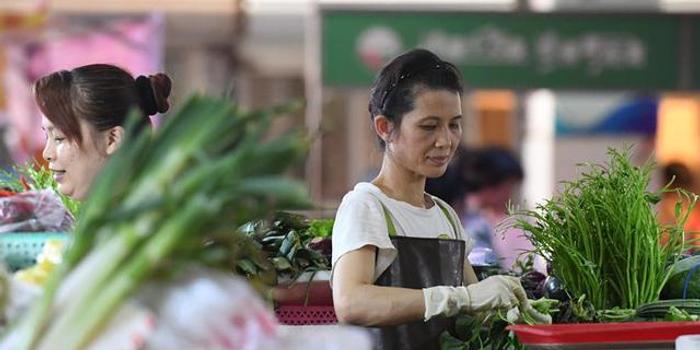
<instances>
[{"instance_id":1,"label":"blurred pink poster behind the head of the woman with a bun","mask_svg":"<svg viewBox=\"0 0 700 350\"><path fill-rule=\"evenodd\" d=\"M61 69L109 63L134 75L152 74L163 67L162 16L71 20L50 24L40 38L6 45L7 110L5 143L15 162L41 158L44 136L41 114L31 95L39 77Z\"/></svg>"}]
</instances>

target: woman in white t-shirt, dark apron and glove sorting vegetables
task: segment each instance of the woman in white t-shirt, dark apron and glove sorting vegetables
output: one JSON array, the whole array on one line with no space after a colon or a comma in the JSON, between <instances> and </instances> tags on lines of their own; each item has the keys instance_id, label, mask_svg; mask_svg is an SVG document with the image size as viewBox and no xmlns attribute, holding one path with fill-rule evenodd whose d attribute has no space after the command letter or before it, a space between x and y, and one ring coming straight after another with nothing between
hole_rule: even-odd
<instances>
[{"instance_id":1,"label":"woman in white t-shirt, dark apron and glove sorting vegetables","mask_svg":"<svg viewBox=\"0 0 700 350\"><path fill-rule=\"evenodd\" d=\"M477 282L457 215L424 192L460 142L461 96L457 68L422 49L392 60L371 90L382 167L338 209L332 285L339 321L374 327L377 349L439 349L460 311L529 306L516 278Z\"/></svg>"}]
</instances>

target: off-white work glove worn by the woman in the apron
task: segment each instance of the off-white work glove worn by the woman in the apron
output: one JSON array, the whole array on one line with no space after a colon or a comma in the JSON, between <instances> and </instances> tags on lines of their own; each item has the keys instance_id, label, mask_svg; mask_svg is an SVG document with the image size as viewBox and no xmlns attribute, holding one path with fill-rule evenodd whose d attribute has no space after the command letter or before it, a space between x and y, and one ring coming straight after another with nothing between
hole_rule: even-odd
<instances>
[{"instance_id":1,"label":"off-white work glove worn by the woman in the apron","mask_svg":"<svg viewBox=\"0 0 700 350\"><path fill-rule=\"evenodd\" d=\"M423 301L426 321L437 315L454 316L459 311L474 313L529 305L520 280L511 276L491 276L467 287L425 288Z\"/></svg>"}]
</instances>

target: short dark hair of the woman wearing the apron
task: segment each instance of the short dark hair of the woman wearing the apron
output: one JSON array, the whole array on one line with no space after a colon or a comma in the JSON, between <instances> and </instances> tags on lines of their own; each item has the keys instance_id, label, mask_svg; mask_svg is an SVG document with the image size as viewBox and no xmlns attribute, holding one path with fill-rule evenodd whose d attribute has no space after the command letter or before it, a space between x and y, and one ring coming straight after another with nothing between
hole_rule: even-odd
<instances>
[{"instance_id":1,"label":"short dark hair of the woman wearing the apron","mask_svg":"<svg viewBox=\"0 0 700 350\"><path fill-rule=\"evenodd\" d=\"M461 73L453 64L425 49L408 51L379 71L369 98L370 120L384 115L400 126L404 114L414 108L416 94L422 89L463 92ZM384 142L379 143L384 147Z\"/></svg>"}]
</instances>

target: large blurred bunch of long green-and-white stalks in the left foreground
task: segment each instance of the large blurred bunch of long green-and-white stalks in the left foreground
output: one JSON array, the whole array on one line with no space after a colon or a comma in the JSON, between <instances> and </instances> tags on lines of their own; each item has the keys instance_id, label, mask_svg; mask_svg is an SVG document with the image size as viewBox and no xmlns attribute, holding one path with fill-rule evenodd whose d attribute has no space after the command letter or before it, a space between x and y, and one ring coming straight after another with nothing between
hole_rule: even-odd
<instances>
[{"instance_id":1,"label":"large blurred bunch of long green-and-white stalks in the left foreground","mask_svg":"<svg viewBox=\"0 0 700 350\"><path fill-rule=\"evenodd\" d=\"M63 264L0 348L85 348L144 281L254 253L241 225L308 205L304 186L282 176L308 142L265 138L270 112L193 98L155 134L126 140L93 184Z\"/></svg>"}]
</instances>

